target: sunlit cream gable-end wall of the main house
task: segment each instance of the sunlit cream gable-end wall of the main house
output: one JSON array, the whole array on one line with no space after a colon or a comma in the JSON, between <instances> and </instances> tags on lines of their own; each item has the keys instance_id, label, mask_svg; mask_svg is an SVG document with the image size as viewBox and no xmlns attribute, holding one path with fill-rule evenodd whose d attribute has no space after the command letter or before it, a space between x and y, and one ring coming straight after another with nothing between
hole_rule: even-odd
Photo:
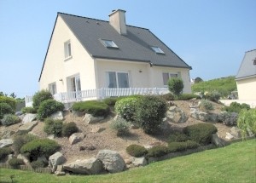
<instances>
[{"instance_id":1,"label":"sunlit cream gable-end wall of the main house","mask_svg":"<svg viewBox=\"0 0 256 183\"><path fill-rule=\"evenodd\" d=\"M65 60L64 43L68 40L71 43L72 58ZM40 89L48 89L49 83L56 83L57 93L67 92L67 77L78 74L82 90L96 88L94 60L59 16L39 81Z\"/></svg>"}]
</instances>

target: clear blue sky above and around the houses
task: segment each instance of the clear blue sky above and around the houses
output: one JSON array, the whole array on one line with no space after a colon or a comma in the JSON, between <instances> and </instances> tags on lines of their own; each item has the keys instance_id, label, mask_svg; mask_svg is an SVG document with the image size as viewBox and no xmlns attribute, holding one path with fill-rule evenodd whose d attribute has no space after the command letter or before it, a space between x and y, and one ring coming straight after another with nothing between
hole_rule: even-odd
<instances>
[{"instance_id":1,"label":"clear blue sky above and around the houses","mask_svg":"<svg viewBox=\"0 0 256 183\"><path fill-rule=\"evenodd\" d=\"M153 31L193 67L192 78L236 75L245 52L256 49L255 0L0 0L0 91L38 91L57 12L108 20L113 9Z\"/></svg>"}]
</instances>

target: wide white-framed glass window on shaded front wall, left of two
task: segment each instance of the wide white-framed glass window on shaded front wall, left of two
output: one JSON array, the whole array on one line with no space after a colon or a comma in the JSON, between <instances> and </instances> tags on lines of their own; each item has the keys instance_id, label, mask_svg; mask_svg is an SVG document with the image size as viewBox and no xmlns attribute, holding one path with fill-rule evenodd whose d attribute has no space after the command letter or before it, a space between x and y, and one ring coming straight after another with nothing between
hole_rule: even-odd
<instances>
[{"instance_id":1,"label":"wide white-framed glass window on shaded front wall, left of two","mask_svg":"<svg viewBox=\"0 0 256 183\"><path fill-rule=\"evenodd\" d=\"M128 72L107 71L107 87L108 88L129 88Z\"/></svg>"}]
</instances>

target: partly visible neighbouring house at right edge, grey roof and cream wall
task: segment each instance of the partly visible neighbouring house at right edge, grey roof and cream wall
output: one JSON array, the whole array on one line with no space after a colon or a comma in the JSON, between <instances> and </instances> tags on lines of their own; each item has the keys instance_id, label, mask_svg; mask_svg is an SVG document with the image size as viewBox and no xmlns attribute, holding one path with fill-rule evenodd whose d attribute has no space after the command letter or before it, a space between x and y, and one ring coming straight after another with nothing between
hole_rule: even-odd
<instances>
[{"instance_id":1,"label":"partly visible neighbouring house at right edge, grey roof and cream wall","mask_svg":"<svg viewBox=\"0 0 256 183\"><path fill-rule=\"evenodd\" d=\"M236 75L236 86L239 100L256 102L256 49L245 53Z\"/></svg>"}]
</instances>

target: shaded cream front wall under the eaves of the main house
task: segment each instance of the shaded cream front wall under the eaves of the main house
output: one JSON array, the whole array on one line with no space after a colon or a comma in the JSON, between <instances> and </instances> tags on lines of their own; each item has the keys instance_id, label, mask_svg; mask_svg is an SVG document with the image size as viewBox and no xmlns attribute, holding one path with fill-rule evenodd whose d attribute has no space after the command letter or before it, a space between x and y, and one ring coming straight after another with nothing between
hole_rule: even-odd
<instances>
[{"instance_id":1,"label":"shaded cream front wall under the eaves of the main house","mask_svg":"<svg viewBox=\"0 0 256 183\"><path fill-rule=\"evenodd\" d=\"M183 93L191 93L189 69L153 66L148 63L124 60L96 60L97 87L108 88L106 71L128 72L132 88L163 88L163 72L180 72L184 83Z\"/></svg>"}]
</instances>

